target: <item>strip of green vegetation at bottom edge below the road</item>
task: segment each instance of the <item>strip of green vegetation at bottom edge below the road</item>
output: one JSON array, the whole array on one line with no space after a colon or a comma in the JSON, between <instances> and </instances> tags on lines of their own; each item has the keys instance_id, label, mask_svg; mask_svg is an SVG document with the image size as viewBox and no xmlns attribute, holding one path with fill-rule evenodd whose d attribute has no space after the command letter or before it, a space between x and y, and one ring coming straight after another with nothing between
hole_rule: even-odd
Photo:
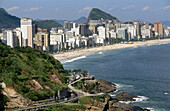
<instances>
[{"instance_id":1,"label":"strip of green vegetation at bottom edge below the road","mask_svg":"<svg viewBox=\"0 0 170 111\"><path fill-rule=\"evenodd\" d=\"M43 111L85 111L86 107L77 103L62 103L58 105L49 106Z\"/></svg>"}]
</instances>

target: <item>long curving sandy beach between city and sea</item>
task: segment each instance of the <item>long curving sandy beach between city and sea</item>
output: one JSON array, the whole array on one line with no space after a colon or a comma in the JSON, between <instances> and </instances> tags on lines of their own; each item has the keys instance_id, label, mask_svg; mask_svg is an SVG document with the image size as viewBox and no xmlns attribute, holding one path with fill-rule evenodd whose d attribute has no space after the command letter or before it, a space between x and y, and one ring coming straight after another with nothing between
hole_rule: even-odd
<instances>
[{"instance_id":1,"label":"long curving sandy beach between city and sea","mask_svg":"<svg viewBox=\"0 0 170 111\"><path fill-rule=\"evenodd\" d=\"M153 44L161 44L161 43L169 43L169 42L170 42L170 39L137 41L137 42L133 42L132 44L114 44L114 45L108 45L108 46L94 47L94 48L90 48L90 49L81 49L81 50L78 49L78 50L70 51L70 52L52 54L52 56L55 59L58 59L61 61L64 59L79 57L84 54L92 53L92 52L100 52L100 51L106 51L106 50L138 47L138 46L144 46L144 45L153 45Z\"/></svg>"}]
</instances>

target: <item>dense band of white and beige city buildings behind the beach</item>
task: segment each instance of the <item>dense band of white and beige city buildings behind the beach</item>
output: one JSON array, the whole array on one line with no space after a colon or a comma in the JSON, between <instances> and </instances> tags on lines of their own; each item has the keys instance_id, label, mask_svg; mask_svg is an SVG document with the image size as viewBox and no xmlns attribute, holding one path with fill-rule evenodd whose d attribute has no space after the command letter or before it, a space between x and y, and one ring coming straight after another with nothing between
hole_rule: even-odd
<instances>
[{"instance_id":1,"label":"dense band of white and beige city buildings behind the beach","mask_svg":"<svg viewBox=\"0 0 170 111\"><path fill-rule=\"evenodd\" d=\"M30 18L21 18L20 27L3 30L2 42L11 47L33 47L45 52L113 44L115 40L133 41L170 37L170 28L163 23L140 21L122 23L112 20L89 20L77 24L65 21L63 27L51 30L38 28Z\"/></svg>"}]
</instances>

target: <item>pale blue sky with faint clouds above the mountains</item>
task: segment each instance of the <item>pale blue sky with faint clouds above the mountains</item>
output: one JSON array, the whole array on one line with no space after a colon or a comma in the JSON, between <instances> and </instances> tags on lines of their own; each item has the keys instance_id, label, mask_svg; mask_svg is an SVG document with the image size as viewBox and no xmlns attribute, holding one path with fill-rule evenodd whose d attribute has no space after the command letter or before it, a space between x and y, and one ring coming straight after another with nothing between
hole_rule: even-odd
<instances>
[{"instance_id":1,"label":"pale blue sky with faint clouds above the mountains","mask_svg":"<svg viewBox=\"0 0 170 111\"><path fill-rule=\"evenodd\" d=\"M170 20L170 0L0 0L0 7L32 19L75 20L99 8L121 21Z\"/></svg>"}]
</instances>

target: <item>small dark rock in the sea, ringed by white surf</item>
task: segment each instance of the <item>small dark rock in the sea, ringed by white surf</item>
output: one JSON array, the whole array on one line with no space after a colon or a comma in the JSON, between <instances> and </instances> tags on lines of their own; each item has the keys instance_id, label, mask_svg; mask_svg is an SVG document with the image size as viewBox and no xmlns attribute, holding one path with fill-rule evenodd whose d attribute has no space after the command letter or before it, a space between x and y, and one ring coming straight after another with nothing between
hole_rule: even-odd
<instances>
[{"instance_id":1,"label":"small dark rock in the sea, ringed by white surf","mask_svg":"<svg viewBox=\"0 0 170 111\"><path fill-rule=\"evenodd\" d=\"M117 95L116 95L116 99L118 101L135 101L135 98L136 96L132 96L126 92L119 92Z\"/></svg>"}]
</instances>

